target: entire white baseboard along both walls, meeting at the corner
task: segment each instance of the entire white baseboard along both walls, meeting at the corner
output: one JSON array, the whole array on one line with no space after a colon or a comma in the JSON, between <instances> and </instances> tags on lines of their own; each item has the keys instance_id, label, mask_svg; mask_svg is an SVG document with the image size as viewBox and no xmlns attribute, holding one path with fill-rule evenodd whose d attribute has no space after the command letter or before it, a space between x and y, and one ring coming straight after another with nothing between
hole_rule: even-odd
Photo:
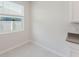
<instances>
[{"instance_id":1,"label":"entire white baseboard along both walls, meeting at the corner","mask_svg":"<svg viewBox=\"0 0 79 59\"><path fill-rule=\"evenodd\" d=\"M20 47L20 46L22 46L22 45L24 45L24 44L27 44L27 43L29 43L29 42L32 42L32 43L34 43L34 44L36 44L36 45L38 45L38 46L40 46L40 47L46 49L47 51L52 52L53 54L57 55L58 57L68 57L67 55L64 55L64 54L62 54L62 53L60 53L60 52L58 52L58 51L56 51L56 50L47 48L47 47L45 47L44 45L42 45L42 44L40 44L40 43L38 43L38 42L32 41L32 40L24 41L24 42L22 42L22 43L20 43L20 44L17 44L16 46L12 46L12 47L10 47L10 48L8 48L8 49L5 49L5 50L3 50L3 51L0 51L0 55L3 54L3 53L8 52L8 51L10 51L10 50L13 50L13 49L15 49L15 48L18 48L18 47Z\"/></svg>"}]
</instances>

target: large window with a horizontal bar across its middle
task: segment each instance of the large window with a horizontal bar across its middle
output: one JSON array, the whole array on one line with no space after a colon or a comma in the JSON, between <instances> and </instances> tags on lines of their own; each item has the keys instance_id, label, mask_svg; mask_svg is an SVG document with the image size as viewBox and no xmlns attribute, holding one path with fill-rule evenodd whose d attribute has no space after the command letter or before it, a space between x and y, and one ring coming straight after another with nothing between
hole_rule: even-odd
<instances>
[{"instance_id":1,"label":"large window with a horizontal bar across its middle","mask_svg":"<svg viewBox=\"0 0 79 59\"><path fill-rule=\"evenodd\" d=\"M0 33L24 30L24 6L14 2L0 2Z\"/></svg>"}]
</instances>

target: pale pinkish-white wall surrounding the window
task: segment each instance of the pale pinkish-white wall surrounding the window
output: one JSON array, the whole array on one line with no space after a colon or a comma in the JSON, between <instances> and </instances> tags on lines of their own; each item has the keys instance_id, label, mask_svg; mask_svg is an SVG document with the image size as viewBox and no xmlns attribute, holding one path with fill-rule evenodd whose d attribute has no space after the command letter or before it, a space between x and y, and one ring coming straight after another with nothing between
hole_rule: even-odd
<instances>
[{"instance_id":1,"label":"pale pinkish-white wall surrounding the window","mask_svg":"<svg viewBox=\"0 0 79 59\"><path fill-rule=\"evenodd\" d=\"M12 46L16 46L17 44L21 44L24 41L28 41L29 39L29 2L17 2L24 6L24 31L22 32L14 32L7 34L0 34L0 51L11 48Z\"/></svg>"}]
</instances>

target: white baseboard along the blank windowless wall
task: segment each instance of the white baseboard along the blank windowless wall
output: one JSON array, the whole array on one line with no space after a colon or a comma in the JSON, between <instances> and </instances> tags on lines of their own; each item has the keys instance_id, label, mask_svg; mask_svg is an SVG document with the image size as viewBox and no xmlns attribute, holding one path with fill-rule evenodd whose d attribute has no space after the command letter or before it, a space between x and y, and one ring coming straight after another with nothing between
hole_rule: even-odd
<instances>
[{"instance_id":1,"label":"white baseboard along the blank windowless wall","mask_svg":"<svg viewBox=\"0 0 79 59\"><path fill-rule=\"evenodd\" d=\"M62 53L60 53L60 52L58 52L58 51L56 51L56 50L47 48L47 47L43 46L42 44L40 44L40 43L38 43L38 42L34 42L34 41L33 41L32 43L34 43L34 44L36 44L36 45L38 45L38 46L40 46L40 47L46 49L46 50L49 51L49 52L52 52L53 54L57 55L58 57L68 57L67 55L64 55L64 54L62 54Z\"/></svg>"}]
</instances>

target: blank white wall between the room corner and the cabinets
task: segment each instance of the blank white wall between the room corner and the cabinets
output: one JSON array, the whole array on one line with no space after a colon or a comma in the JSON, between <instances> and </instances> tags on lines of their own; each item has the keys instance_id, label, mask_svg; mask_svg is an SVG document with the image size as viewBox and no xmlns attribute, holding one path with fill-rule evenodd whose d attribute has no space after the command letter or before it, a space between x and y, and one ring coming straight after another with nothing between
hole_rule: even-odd
<instances>
[{"instance_id":1,"label":"blank white wall between the room corner and the cabinets","mask_svg":"<svg viewBox=\"0 0 79 59\"><path fill-rule=\"evenodd\" d=\"M32 2L32 35L35 42L57 51L62 56L70 55L65 41L68 32L68 2Z\"/></svg>"}]
</instances>

